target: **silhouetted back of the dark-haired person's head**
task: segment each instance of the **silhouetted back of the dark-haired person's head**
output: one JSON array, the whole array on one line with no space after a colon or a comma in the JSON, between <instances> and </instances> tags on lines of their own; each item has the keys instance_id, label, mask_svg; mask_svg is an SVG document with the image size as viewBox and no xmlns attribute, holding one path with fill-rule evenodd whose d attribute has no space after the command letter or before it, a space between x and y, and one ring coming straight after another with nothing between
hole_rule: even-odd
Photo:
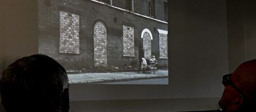
<instances>
[{"instance_id":1,"label":"silhouetted back of the dark-haired person's head","mask_svg":"<svg viewBox=\"0 0 256 112\"><path fill-rule=\"evenodd\" d=\"M10 64L2 72L0 92L7 112L69 109L69 103L65 102L69 100L66 70L42 54L23 57Z\"/></svg>"}]
</instances>

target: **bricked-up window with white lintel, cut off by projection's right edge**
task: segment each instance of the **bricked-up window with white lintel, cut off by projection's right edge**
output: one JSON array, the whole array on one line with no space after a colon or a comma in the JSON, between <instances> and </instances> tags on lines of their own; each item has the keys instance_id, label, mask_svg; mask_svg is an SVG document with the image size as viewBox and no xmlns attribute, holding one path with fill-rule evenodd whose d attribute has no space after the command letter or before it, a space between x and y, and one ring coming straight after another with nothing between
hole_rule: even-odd
<instances>
[{"instance_id":1,"label":"bricked-up window with white lintel, cut off by projection's right edge","mask_svg":"<svg viewBox=\"0 0 256 112\"><path fill-rule=\"evenodd\" d=\"M158 29L158 32L159 32L160 58L168 58L168 43L167 43L168 31Z\"/></svg>"}]
</instances>

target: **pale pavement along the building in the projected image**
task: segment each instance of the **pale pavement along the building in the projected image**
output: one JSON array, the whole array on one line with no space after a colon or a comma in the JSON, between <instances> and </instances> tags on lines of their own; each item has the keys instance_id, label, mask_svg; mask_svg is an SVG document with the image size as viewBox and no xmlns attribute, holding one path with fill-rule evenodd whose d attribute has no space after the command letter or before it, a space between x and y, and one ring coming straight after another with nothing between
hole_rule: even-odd
<instances>
[{"instance_id":1,"label":"pale pavement along the building in the projected image","mask_svg":"<svg viewBox=\"0 0 256 112\"><path fill-rule=\"evenodd\" d=\"M69 83L95 84L103 82L128 81L138 79L166 78L168 70L158 70L156 74L149 72L115 72L115 73L80 73L68 74Z\"/></svg>"}]
</instances>

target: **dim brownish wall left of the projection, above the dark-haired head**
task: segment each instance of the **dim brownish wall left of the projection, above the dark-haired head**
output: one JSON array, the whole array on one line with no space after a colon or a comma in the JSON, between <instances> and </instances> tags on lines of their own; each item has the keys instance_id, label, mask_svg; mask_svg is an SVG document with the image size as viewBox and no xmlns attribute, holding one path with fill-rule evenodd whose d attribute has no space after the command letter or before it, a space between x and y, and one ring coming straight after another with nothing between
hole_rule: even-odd
<instances>
[{"instance_id":1,"label":"dim brownish wall left of the projection, above the dark-haired head","mask_svg":"<svg viewBox=\"0 0 256 112\"><path fill-rule=\"evenodd\" d=\"M3 68L15 59L38 54L37 1L5 1Z\"/></svg>"}]
</instances>

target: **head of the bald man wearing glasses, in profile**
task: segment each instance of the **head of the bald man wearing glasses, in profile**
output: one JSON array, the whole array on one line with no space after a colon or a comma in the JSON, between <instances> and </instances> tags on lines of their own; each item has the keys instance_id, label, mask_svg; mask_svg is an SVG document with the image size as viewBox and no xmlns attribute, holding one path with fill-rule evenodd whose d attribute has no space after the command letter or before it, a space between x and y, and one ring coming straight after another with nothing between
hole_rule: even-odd
<instances>
[{"instance_id":1,"label":"head of the bald man wearing glasses, in profile","mask_svg":"<svg viewBox=\"0 0 256 112\"><path fill-rule=\"evenodd\" d=\"M242 63L223 77L225 86L219 100L225 112L247 112L256 106L256 59Z\"/></svg>"}]
</instances>

